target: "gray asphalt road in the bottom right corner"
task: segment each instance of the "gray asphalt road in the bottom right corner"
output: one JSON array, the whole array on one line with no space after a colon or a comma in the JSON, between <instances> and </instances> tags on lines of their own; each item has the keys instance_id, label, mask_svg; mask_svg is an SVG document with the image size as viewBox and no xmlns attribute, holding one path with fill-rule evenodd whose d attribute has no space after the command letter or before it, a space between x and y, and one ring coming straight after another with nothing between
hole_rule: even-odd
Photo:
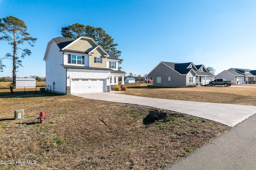
<instances>
[{"instance_id":1,"label":"gray asphalt road in the bottom right corner","mask_svg":"<svg viewBox=\"0 0 256 170\"><path fill-rule=\"evenodd\" d=\"M256 170L256 115L165 170Z\"/></svg>"}]
</instances>

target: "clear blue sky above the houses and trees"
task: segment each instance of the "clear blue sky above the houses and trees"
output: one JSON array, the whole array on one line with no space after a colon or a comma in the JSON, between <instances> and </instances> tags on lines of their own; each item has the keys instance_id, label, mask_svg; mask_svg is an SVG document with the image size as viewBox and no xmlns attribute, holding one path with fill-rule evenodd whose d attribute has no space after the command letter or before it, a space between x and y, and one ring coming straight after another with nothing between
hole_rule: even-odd
<instances>
[{"instance_id":1,"label":"clear blue sky above the houses and trees","mask_svg":"<svg viewBox=\"0 0 256 170\"><path fill-rule=\"evenodd\" d=\"M122 51L127 74L149 73L160 61L204 64L216 74L256 70L256 0L0 0L0 18L23 20L37 38L17 76L45 76L47 43L74 23L102 27ZM11 53L0 41L0 58ZM12 61L0 77L12 76Z\"/></svg>"}]
</instances>

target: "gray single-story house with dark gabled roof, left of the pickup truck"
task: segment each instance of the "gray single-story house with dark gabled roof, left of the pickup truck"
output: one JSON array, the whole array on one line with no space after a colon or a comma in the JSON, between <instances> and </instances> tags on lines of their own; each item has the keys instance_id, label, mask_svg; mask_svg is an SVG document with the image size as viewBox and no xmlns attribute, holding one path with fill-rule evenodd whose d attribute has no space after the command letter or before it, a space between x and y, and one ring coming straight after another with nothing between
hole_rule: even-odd
<instances>
[{"instance_id":1,"label":"gray single-story house with dark gabled roof, left of the pickup truck","mask_svg":"<svg viewBox=\"0 0 256 170\"><path fill-rule=\"evenodd\" d=\"M208 72L204 65L161 61L148 73L148 77L153 78L153 86L186 87L208 84L215 75Z\"/></svg>"}]
</instances>

